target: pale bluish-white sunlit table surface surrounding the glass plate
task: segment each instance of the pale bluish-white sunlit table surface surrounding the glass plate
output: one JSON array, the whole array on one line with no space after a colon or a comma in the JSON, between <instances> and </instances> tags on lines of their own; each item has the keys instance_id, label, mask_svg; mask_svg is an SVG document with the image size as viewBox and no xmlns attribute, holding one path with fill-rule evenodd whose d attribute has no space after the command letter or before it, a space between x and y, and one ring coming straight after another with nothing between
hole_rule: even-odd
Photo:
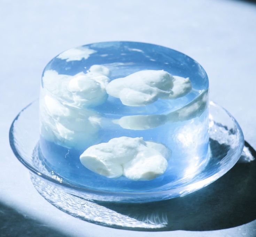
<instances>
[{"instance_id":1,"label":"pale bluish-white sunlit table surface surrounding the glass plate","mask_svg":"<svg viewBox=\"0 0 256 237\"><path fill-rule=\"evenodd\" d=\"M217 231L132 232L76 219L33 188L28 170L11 152L8 131L16 114L38 97L41 72L58 53L92 42L130 40L160 44L197 60L209 76L210 99L231 112L256 148L256 5L1 0L0 32L0 202L67 236L255 236L256 221Z\"/></svg>"}]
</instances>

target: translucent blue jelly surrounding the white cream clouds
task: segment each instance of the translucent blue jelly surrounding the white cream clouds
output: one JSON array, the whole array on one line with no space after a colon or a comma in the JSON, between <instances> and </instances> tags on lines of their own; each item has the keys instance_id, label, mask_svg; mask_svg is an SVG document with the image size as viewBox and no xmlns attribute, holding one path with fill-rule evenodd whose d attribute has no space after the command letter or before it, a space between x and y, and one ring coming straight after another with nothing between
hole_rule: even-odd
<instances>
[{"instance_id":1,"label":"translucent blue jelly surrounding the white cream clouds","mask_svg":"<svg viewBox=\"0 0 256 237\"><path fill-rule=\"evenodd\" d=\"M186 183L195 177L208 162L209 84L204 69L192 58L154 44L102 42L83 48L89 52L87 56L80 55L75 57L76 60L73 60L74 57L68 59L57 56L47 64L43 76L49 70L54 70L56 75L73 76L79 72L86 73L92 65L108 67L111 71L110 80L141 70L164 70L175 76L189 77L192 90L183 97L158 99L147 106L126 106L119 98L108 96L101 105L79 107L63 94L60 88L62 84L58 80L64 79L53 78L53 85L49 87L49 83L44 81L45 77L42 77L40 155L46 167L61 179L76 186L113 191L164 190L167 184ZM46 112L45 96L51 97L62 106L61 115L58 115L59 112L54 112L54 115ZM66 113L65 108L70 109L73 115ZM76 124L81 121L83 123L83 116L86 117L88 113L93 117L93 121L96 121L96 125L90 128L85 124L81 126L83 131L79 131ZM179 119L179 113L185 116ZM79 115L79 121L74 114ZM123 116L134 115L156 115L156 119L162 122L143 130L125 129L113 122ZM70 129L73 126L76 127L75 130ZM66 127L69 128L71 139L67 137L67 133L61 132L65 131ZM89 146L122 136L143 137L144 141L162 143L171 149L172 156L165 173L150 181L132 181L123 176L111 179L88 170L80 163L79 156Z\"/></svg>"}]
</instances>

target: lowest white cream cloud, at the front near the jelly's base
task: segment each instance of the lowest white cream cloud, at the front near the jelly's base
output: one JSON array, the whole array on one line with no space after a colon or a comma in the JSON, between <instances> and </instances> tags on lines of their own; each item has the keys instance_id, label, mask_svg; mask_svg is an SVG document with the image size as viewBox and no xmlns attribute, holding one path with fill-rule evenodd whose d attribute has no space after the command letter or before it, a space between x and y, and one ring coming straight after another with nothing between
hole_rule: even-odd
<instances>
[{"instance_id":1,"label":"lowest white cream cloud, at the front near the jelly's base","mask_svg":"<svg viewBox=\"0 0 256 237\"><path fill-rule=\"evenodd\" d=\"M131 180L151 180L165 172L170 156L171 150L162 144L119 137L87 148L80 161L87 169L108 178L124 175Z\"/></svg>"}]
</instances>

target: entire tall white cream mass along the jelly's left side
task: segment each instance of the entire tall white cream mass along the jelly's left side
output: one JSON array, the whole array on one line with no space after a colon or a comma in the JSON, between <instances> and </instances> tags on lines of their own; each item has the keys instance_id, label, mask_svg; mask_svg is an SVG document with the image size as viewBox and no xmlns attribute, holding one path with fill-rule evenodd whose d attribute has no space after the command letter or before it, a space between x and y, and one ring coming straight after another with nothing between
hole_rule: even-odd
<instances>
[{"instance_id":1,"label":"entire tall white cream mass along the jelly's left side","mask_svg":"<svg viewBox=\"0 0 256 237\"><path fill-rule=\"evenodd\" d=\"M84 149L95 144L101 116L90 107L106 101L109 75L109 69L101 65L74 76L45 71L40 100L42 136L68 148Z\"/></svg>"}]
</instances>

